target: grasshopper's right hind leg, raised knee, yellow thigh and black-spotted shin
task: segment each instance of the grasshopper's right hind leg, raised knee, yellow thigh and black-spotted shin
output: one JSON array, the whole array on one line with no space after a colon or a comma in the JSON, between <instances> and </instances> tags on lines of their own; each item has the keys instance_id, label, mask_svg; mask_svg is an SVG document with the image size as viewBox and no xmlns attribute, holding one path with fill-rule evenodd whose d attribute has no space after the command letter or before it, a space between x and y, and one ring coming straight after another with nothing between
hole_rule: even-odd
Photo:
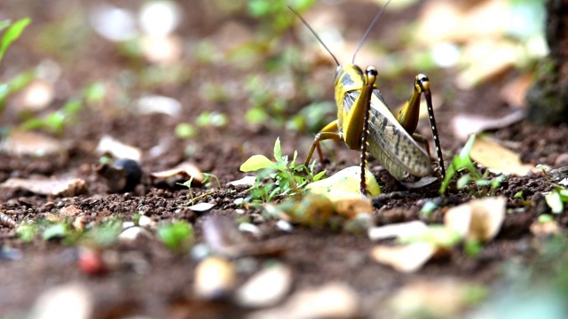
<instances>
[{"instance_id":1,"label":"grasshopper's right hind leg, raised knee, yellow thigh and black-spotted shin","mask_svg":"<svg viewBox=\"0 0 568 319\"><path fill-rule=\"evenodd\" d=\"M440 167L440 174L442 179L446 177L446 167L444 167L444 159L442 157L442 146L440 145L438 137L438 128L436 127L436 119L434 118L434 109L432 108L432 97L430 93L430 80L424 74L416 75L414 80L414 90L406 104L402 107L398 113L398 123L406 129L406 132L411 134L419 143L425 145L426 152L430 154L430 145L428 140L419 134L414 133L416 127L418 126L418 116L420 114L420 97L424 93L426 97L426 105L428 107L428 118L430 120L430 129L432 130L432 136L434 138L434 145L436 146L436 154L438 156L438 163Z\"/></svg>"}]
</instances>

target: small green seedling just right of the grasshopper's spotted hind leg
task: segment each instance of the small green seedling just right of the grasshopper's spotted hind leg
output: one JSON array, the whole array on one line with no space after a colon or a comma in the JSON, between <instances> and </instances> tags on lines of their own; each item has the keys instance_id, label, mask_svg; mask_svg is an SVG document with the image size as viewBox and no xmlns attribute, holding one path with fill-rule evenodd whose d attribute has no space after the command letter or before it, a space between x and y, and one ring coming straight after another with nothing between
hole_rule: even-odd
<instances>
[{"instance_id":1,"label":"small green seedling just right of the grasshopper's spotted hind leg","mask_svg":"<svg viewBox=\"0 0 568 319\"><path fill-rule=\"evenodd\" d=\"M493 196L495 191L501 186L501 183L505 181L505 175L498 175L496 177L489 178L489 170L485 170L483 175L477 172L476 167L473 165L473 161L471 161L471 158L469 157L469 153L471 152L471 148L473 147L475 140L475 135L469 136L469 140L463 146L460 154L452 159L452 163L449 167L447 167L446 178L444 178L444 182L442 182L442 185L440 186L440 194L446 193L452 178L454 178L454 175L461 170L467 170L468 173L461 175L456 183L457 188L460 190L464 189L471 181L473 181L477 186L477 191L479 191L482 195L486 195L488 188Z\"/></svg>"}]
</instances>

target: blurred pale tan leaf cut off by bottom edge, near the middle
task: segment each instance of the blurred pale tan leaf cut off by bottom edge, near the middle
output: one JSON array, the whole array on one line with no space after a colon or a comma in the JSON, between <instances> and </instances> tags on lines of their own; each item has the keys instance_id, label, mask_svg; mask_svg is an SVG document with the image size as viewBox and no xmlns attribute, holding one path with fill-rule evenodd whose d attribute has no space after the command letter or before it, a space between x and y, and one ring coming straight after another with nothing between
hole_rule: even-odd
<instances>
[{"instance_id":1,"label":"blurred pale tan leaf cut off by bottom edge, near the middle","mask_svg":"<svg viewBox=\"0 0 568 319\"><path fill-rule=\"evenodd\" d=\"M335 282L295 292L282 306L257 311L248 318L356 318L359 299L351 286Z\"/></svg>"}]
</instances>

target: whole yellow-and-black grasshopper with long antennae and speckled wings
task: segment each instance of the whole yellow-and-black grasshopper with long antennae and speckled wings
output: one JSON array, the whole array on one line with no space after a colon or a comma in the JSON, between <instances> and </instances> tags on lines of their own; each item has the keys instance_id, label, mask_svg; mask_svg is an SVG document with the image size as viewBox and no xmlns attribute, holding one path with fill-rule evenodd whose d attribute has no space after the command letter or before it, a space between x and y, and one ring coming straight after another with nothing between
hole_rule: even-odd
<instances>
[{"instance_id":1,"label":"whole yellow-and-black grasshopper with long antennae and speckled wings","mask_svg":"<svg viewBox=\"0 0 568 319\"><path fill-rule=\"evenodd\" d=\"M388 2L387 2L388 4ZM420 111L420 98L422 93L426 98L430 128L436 146L438 163L442 178L446 175L442 148L438 138L438 129L432 109L430 80L424 74L416 75L414 90L406 104L402 107L398 116L390 113L384 102L381 91L375 81L378 72L375 66L367 66L365 72L355 65L355 56L367 40L373 27L383 12L384 7L375 15L375 19L367 28L367 32L359 42L359 46L353 53L351 64L340 65L334 54L327 49L315 31L308 23L292 8L290 10L304 22L316 36L319 43L334 58L337 69L335 71L335 103L337 105L337 120L330 122L315 136L312 148L305 160L308 166L313 152L317 149L319 158L323 159L319 142L323 140L343 140L351 150L361 152L361 183L360 190L363 196L367 195L365 185L365 166L367 164L367 152L370 152L383 167L401 182L410 182L416 177L429 175L432 172L430 160L430 146L426 137L414 133L418 125ZM419 145L422 144L424 149Z\"/></svg>"}]
</instances>

